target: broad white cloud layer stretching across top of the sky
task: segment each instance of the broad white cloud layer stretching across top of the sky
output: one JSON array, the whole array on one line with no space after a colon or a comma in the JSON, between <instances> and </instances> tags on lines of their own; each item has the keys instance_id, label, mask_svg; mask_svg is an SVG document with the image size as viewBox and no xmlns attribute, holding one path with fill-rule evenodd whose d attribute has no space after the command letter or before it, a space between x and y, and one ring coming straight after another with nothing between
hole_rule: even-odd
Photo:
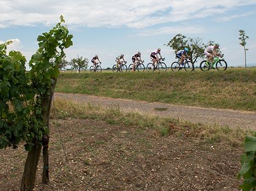
<instances>
[{"instance_id":1,"label":"broad white cloud layer stretching across top of the sky","mask_svg":"<svg viewBox=\"0 0 256 191\"><path fill-rule=\"evenodd\" d=\"M61 14L67 24L89 27L143 28L222 14L256 0L1 0L0 27L52 25Z\"/></svg>"}]
</instances>

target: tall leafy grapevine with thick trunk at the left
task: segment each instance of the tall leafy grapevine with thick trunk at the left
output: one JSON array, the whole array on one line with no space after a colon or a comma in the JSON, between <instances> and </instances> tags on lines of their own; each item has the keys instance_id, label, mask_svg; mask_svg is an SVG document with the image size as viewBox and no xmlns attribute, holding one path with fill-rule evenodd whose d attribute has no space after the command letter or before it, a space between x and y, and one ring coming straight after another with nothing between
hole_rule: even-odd
<instances>
[{"instance_id":1,"label":"tall leafy grapevine with thick trunk at the left","mask_svg":"<svg viewBox=\"0 0 256 191\"><path fill-rule=\"evenodd\" d=\"M47 153L44 165L48 164L50 106L59 64L73 37L64 22L61 16L55 27L38 36L39 48L29 62L30 71L26 71L26 58L20 52L7 53L12 41L0 45L0 149L17 148L24 141L29 153L21 190L33 189L42 146Z\"/></svg>"}]
</instances>

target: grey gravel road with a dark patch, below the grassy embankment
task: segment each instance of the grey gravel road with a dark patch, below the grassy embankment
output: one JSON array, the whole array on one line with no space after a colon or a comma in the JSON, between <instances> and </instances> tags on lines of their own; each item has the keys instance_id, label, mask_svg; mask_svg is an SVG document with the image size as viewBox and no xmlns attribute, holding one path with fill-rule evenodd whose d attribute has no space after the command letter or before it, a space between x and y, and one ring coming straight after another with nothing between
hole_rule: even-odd
<instances>
[{"instance_id":1,"label":"grey gravel road with a dark patch, below the grassy embankment","mask_svg":"<svg viewBox=\"0 0 256 191\"><path fill-rule=\"evenodd\" d=\"M155 114L162 117L172 117L192 123L219 124L231 128L241 127L256 130L256 111L237 111L195 106L180 106L163 103L148 103L127 99L95 97L85 94L55 93L55 98L68 99L72 102L100 105L103 108L117 108L123 111L137 111L144 115Z\"/></svg>"}]
</instances>

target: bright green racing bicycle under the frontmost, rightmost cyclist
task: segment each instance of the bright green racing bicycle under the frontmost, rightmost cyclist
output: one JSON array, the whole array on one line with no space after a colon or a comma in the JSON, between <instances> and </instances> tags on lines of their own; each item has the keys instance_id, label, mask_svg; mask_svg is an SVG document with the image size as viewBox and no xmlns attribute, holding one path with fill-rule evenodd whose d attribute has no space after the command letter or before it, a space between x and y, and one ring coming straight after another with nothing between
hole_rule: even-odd
<instances>
[{"instance_id":1,"label":"bright green racing bicycle under the frontmost, rightmost cyclist","mask_svg":"<svg viewBox=\"0 0 256 191\"><path fill-rule=\"evenodd\" d=\"M207 60L200 63L200 69L202 71L208 71L209 69L226 70L227 63L223 58L224 55L216 56L213 58L213 63L207 62ZM214 68L215 65L215 68Z\"/></svg>"}]
</instances>

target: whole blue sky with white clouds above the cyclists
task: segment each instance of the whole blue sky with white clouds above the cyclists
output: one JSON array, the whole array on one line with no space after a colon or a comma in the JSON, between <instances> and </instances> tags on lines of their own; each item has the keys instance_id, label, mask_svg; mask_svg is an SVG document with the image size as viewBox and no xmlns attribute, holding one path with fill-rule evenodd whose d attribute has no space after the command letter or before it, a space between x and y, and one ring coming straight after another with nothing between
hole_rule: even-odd
<instances>
[{"instance_id":1,"label":"whole blue sky with white clouds above the cyclists","mask_svg":"<svg viewBox=\"0 0 256 191\"><path fill-rule=\"evenodd\" d=\"M121 53L128 63L140 51L145 62L162 49L168 66L175 54L167 44L175 34L200 37L220 44L228 65L244 65L238 30L247 40L247 63L256 63L256 0L0 0L0 43L13 40L8 50L19 50L30 60L37 36L49 31L60 15L73 34L66 59L97 54L103 68ZM197 63L196 65L199 65Z\"/></svg>"}]
</instances>

